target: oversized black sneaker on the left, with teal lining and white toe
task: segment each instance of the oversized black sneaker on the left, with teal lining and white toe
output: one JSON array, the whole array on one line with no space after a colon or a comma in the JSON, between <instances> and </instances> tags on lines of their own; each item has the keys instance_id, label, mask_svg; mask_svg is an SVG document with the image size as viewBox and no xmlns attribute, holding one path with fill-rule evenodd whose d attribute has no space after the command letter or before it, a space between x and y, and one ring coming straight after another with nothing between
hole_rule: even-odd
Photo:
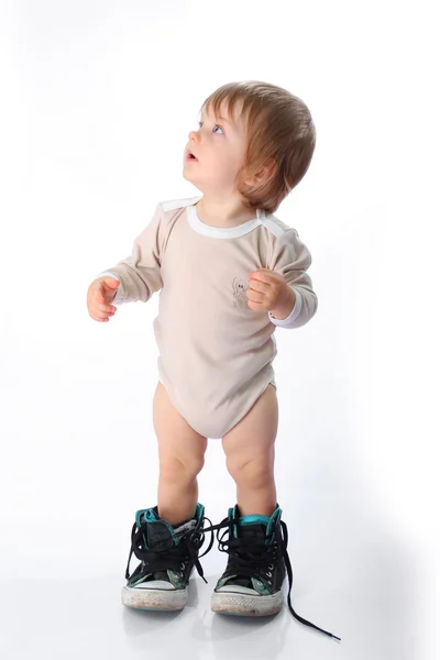
<instances>
[{"instance_id":1,"label":"oversized black sneaker on the left, with teal lining and white toe","mask_svg":"<svg viewBox=\"0 0 440 660\"><path fill-rule=\"evenodd\" d=\"M188 602L188 582L195 566L205 580L198 558L205 540L202 522L205 519L209 520L204 514L205 507L197 504L194 519L173 527L158 517L157 506L136 512L125 571L127 585L122 588L124 605L138 609L165 610L185 607ZM209 552L212 543L213 532L204 554ZM133 552L141 563L130 575Z\"/></svg>"}]
</instances>

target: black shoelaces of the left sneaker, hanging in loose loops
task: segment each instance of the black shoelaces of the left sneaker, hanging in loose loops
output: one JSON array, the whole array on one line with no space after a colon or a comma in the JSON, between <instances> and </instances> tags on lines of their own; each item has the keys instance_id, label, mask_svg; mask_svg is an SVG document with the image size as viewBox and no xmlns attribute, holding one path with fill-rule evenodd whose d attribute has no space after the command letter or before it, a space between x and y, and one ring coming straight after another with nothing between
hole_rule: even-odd
<instances>
[{"instance_id":1,"label":"black shoelaces of the left sneaker, hanging in loose loops","mask_svg":"<svg viewBox=\"0 0 440 660\"><path fill-rule=\"evenodd\" d=\"M205 520L209 520L209 518L204 517L202 522ZM212 526L212 521L209 520L209 522ZM194 562L194 565L197 569L198 574L208 584L208 581L205 579L204 569L201 568L199 559L205 557L205 554L207 554L212 548L215 541L212 531L211 541L208 546L208 549L204 552L204 554L200 554L198 557L198 549L201 548L201 546L205 542L205 529L202 529L201 527L198 531L189 530L189 532L184 534L180 537L180 542L177 546L173 546L172 548L161 548L160 546L157 546L154 550L147 549L145 547L145 530L147 527L147 522L141 522L141 527L139 527L138 530L136 527L136 522L134 522L131 530L131 548L125 570L127 580L130 580L136 570L135 569L132 575L130 575L130 560L134 552L138 559L140 559L148 565L148 570L152 573L156 571L166 571L167 569L174 569L178 571L180 569L182 558L184 556L189 556L191 561Z\"/></svg>"}]
</instances>

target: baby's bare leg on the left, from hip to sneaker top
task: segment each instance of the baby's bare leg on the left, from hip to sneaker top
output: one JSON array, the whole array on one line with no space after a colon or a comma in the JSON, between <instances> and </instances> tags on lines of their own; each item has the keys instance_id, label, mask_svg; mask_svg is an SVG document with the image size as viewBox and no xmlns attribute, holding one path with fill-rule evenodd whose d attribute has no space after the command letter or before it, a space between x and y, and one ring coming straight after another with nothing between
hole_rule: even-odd
<instances>
[{"instance_id":1,"label":"baby's bare leg on the left, from hip to sneaker top","mask_svg":"<svg viewBox=\"0 0 440 660\"><path fill-rule=\"evenodd\" d=\"M175 409L162 383L154 394L153 424L160 458L158 515L178 525L194 517L198 502L197 475L205 463L208 440Z\"/></svg>"}]
</instances>

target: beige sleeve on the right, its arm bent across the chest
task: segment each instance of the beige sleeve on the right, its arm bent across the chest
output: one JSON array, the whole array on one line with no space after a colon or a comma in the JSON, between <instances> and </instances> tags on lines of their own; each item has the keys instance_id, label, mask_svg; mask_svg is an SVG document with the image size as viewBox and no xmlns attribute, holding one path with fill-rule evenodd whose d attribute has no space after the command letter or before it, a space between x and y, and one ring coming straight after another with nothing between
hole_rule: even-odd
<instances>
[{"instance_id":1,"label":"beige sleeve on the right, its arm bent across the chest","mask_svg":"<svg viewBox=\"0 0 440 660\"><path fill-rule=\"evenodd\" d=\"M300 328L316 314L318 296L314 292L307 271L311 265L311 254L300 240L296 229L292 228L277 238L271 257L270 268L282 275L294 289L295 307L286 319L268 317L274 326L280 328Z\"/></svg>"}]
</instances>

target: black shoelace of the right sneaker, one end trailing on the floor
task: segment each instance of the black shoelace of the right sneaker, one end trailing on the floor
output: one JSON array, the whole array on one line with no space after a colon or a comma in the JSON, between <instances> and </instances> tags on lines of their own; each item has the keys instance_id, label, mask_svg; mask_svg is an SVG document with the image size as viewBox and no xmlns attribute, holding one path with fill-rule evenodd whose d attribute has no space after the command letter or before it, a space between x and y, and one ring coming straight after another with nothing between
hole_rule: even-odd
<instances>
[{"instance_id":1,"label":"black shoelace of the right sneaker, one end trailing on the floor","mask_svg":"<svg viewBox=\"0 0 440 660\"><path fill-rule=\"evenodd\" d=\"M264 543L264 540L262 540L262 536L257 532L255 535L250 534L250 536L235 538L233 536L232 529L233 526L238 524L239 518L224 518L224 520L222 520L219 525L213 525L204 529L204 531L213 531L216 529L218 530L217 540L219 541L219 550L221 552L227 552L231 558L231 563L229 564L229 570L231 574L237 573L239 576L251 578L255 574L255 572L263 571L268 563L273 562L274 560L277 561L279 559L279 556L282 556L286 564L289 582L287 603L294 617L301 624L310 626L311 628L320 630L320 632L323 632L324 635L328 635L329 637L341 641L340 637L337 637L332 632L328 632L327 630L319 628L311 622L308 622L307 619L302 618L293 608L290 601L293 572L290 559L287 553L287 525L284 522L284 520L279 520L280 528L277 528L275 530L275 540L270 546ZM228 529L226 529L222 534L222 537L219 538L219 532L224 527L227 527ZM279 529L283 530L283 535L280 535ZM227 536L227 532L229 532L229 538L228 540L223 541L223 538Z\"/></svg>"}]
</instances>

